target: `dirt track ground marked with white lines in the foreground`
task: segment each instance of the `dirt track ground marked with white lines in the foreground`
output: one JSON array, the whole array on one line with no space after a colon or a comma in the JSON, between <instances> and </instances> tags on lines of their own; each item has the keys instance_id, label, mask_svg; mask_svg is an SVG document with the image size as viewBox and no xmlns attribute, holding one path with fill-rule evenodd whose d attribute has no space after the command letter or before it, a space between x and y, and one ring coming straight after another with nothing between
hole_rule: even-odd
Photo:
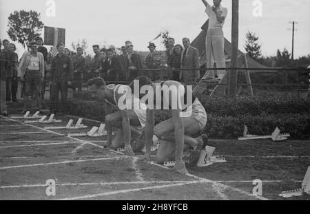
<instances>
[{"instance_id":1,"label":"dirt track ground marked with white lines in the foreground","mask_svg":"<svg viewBox=\"0 0 310 214\"><path fill-rule=\"evenodd\" d=\"M190 174L182 175L143 162L143 153L128 157L103 148L105 136L68 137L100 122L84 119L86 129L44 129L65 126L70 118L56 116L63 122L52 124L0 118L0 200L310 200L278 196L301 187L309 141L209 140L227 162L187 166ZM56 182L54 196L46 194L50 179ZM252 193L256 179L262 180L261 197Z\"/></svg>"}]
</instances>

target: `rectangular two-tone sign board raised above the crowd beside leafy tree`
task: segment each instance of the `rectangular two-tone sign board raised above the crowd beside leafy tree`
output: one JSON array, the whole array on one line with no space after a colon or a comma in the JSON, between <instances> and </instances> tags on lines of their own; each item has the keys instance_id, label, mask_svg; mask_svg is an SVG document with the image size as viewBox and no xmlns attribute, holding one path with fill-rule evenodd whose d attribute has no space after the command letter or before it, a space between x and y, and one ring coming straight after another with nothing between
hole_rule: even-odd
<instances>
[{"instance_id":1,"label":"rectangular two-tone sign board raised above the crowd beside leafy tree","mask_svg":"<svg viewBox=\"0 0 310 214\"><path fill-rule=\"evenodd\" d=\"M57 32L56 43L63 43L65 45L65 29L48 26L44 26L44 45L56 45L54 38L55 31Z\"/></svg>"}]
</instances>

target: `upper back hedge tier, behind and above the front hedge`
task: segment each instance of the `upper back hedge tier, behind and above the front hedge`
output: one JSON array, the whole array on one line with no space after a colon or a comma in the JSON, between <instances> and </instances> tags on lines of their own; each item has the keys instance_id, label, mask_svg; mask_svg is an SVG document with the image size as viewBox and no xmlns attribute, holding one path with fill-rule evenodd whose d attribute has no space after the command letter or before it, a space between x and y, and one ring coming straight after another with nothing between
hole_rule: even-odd
<instances>
[{"instance_id":1,"label":"upper back hedge tier, behind and above the front hedge","mask_svg":"<svg viewBox=\"0 0 310 214\"><path fill-rule=\"evenodd\" d=\"M75 94L75 98L83 100L96 100L91 98L89 92ZM240 116L262 114L310 114L310 100L260 97L260 98L209 98L200 97L200 102L208 114L216 116Z\"/></svg>"}]
</instances>

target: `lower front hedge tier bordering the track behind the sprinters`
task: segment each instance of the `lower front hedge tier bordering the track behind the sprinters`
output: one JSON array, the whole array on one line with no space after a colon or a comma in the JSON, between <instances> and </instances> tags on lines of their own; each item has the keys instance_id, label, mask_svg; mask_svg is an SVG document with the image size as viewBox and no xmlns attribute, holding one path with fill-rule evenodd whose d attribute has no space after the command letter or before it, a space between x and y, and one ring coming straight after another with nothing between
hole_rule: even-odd
<instances>
[{"instance_id":1,"label":"lower front hedge tier bordering the track behind the sprinters","mask_svg":"<svg viewBox=\"0 0 310 214\"><path fill-rule=\"evenodd\" d=\"M105 120L104 103L95 100L68 100L67 113L93 120ZM156 111L156 124L168 118L170 118L169 111ZM282 133L291 133L293 139L309 139L310 135L310 114L308 113L260 114L259 116L208 114L207 120L207 126L203 133L207 133L209 138L236 139L242 136L244 125L247 125L251 134L269 134L278 127Z\"/></svg>"}]
</instances>

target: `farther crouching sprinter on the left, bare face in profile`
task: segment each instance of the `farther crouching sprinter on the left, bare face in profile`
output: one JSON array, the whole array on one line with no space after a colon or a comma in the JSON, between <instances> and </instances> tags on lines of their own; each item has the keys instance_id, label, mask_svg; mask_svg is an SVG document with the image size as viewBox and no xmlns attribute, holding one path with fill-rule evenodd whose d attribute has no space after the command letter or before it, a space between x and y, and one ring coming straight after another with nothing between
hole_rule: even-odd
<instances>
[{"instance_id":1,"label":"farther crouching sprinter on the left, bare face in profile","mask_svg":"<svg viewBox=\"0 0 310 214\"><path fill-rule=\"evenodd\" d=\"M112 149L125 147L128 156L134 156L131 141L143 133L146 122L146 106L139 98L132 96L128 85L105 85L103 78L92 78L88 81L92 96L105 100L105 128L107 130L107 146ZM131 98L128 100L126 98ZM137 106L137 107L135 107ZM119 111L112 113L112 107ZM112 128L118 129L112 141ZM143 142L142 142L143 144Z\"/></svg>"}]
</instances>

